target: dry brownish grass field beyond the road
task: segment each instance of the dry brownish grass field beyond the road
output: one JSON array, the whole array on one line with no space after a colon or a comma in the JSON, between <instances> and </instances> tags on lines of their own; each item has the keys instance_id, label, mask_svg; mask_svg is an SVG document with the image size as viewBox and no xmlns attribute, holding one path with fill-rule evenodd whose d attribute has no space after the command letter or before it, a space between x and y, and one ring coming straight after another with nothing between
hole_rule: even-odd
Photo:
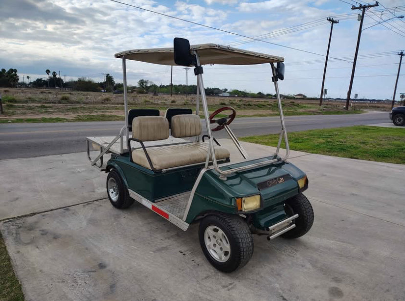
<instances>
[{"instance_id":1,"label":"dry brownish grass field beyond the road","mask_svg":"<svg viewBox=\"0 0 405 301\"><path fill-rule=\"evenodd\" d=\"M123 94L77 92L41 89L0 89L4 122L66 122L122 120L124 116ZM161 114L167 108L191 108L195 110L196 95L129 94L130 108L154 108ZM210 111L232 106L239 117L277 116L275 99L208 96ZM388 104L355 103L351 110L343 109L344 103L326 101L319 108L317 100L283 100L284 113L291 115L358 114L362 110L389 110Z\"/></svg>"}]
</instances>

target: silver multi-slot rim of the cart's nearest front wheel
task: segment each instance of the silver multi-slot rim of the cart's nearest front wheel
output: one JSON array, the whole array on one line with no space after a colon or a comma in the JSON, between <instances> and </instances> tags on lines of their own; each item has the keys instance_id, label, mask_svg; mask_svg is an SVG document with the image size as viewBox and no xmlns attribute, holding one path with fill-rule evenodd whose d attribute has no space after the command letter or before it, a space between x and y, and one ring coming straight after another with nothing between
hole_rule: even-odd
<instances>
[{"instance_id":1,"label":"silver multi-slot rim of the cart's nearest front wheel","mask_svg":"<svg viewBox=\"0 0 405 301\"><path fill-rule=\"evenodd\" d=\"M225 262L230 256L228 237L217 226L209 226L204 232L204 242L209 254L219 262Z\"/></svg>"}]
</instances>

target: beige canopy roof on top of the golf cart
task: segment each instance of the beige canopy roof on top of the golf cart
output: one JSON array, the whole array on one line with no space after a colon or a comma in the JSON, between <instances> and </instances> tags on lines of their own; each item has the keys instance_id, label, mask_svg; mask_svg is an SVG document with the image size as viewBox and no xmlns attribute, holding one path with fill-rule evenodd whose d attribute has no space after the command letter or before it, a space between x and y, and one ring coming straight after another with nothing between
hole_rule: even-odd
<instances>
[{"instance_id":1,"label":"beige canopy roof on top of the golf cart","mask_svg":"<svg viewBox=\"0 0 405 301\"><path fill-rule=\"evenodd\" d=\"M192 45L190 48L198 51L201 65L255 65L284 61L284 58L279 56L216 44ZM124 56L127 60L168 66L176 65L173 48L134 49L115 54L117 58L123 58Z\"/></svg>"}]
</instances>

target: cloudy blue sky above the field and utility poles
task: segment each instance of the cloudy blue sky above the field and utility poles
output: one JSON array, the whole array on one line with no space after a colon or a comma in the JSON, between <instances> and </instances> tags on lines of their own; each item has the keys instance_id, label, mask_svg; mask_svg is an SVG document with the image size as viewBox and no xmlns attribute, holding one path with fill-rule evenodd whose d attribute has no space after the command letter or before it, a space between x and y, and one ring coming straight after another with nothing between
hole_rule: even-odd
<instances>
[{"instance_id":1,"label":"cloudy blue sky above the field and utility poles","mask_svg":"<svg viewBox=\"0 0 405 301\"><path fill-rule=\"evenodd\" d=\"M326 18L333 17L339 23L333 28L325 88L329 97L346 97L360 25L357 18L360 10L351 9L359 4L353 0L120 2L264 42L112 0L1 0L0 68L17 69L21 80L22 75L44 78L45 70L50 69L60 71L66 80L88 77L98 82L103 80L103 73L110 73L115 82L122 82L122 63L114 58L115 53L171 47L174 37L182 37L192 45L215 43L282 56L285 79L279 82L280 93L319 97L331 30ZM400 59L397 53L405 50L405 18L397 17L405 15L405 3L403 0L380 3L383 6L366 11L352 97L355 93L359 98L393 96ZM402 73L405 74L404 69ZM127 76L129 85L136 85L139 79L169 84L170 67L128 61ZM269 64L208 65L204 66L203 76L205 87L274 93ZM173 83L185 82L185 70L175 66ZM196 83L192 70L188 72L188 82ZM397 100L399 93L405 93L404 75L399 77Z\"/></svg>"}]
</instances>

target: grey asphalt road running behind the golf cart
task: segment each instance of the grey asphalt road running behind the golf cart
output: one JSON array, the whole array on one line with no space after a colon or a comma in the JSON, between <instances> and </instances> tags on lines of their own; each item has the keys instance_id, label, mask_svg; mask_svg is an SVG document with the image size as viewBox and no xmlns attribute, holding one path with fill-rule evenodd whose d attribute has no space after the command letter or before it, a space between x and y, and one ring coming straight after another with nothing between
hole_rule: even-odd
<instances>
[{"instance_id":1,"label":"grey asphalt road running behind the golf cart","mask_svg":"<svg viewBox=\"0 0 405 301\"><path fill-rule=\"evenodd\" d=\"M288 116L286 128L288 132L296 132L382 123L388 120L388 113L381 112ZM0 160L83 152L86 151L86 137L116 136L122 126L122 121L0 124ZM280 132L280 118L236 118L230 127L237 137L274 134ZM227 134L223 130L216 132L215 137L227 138Z\"/></svg>"}]
</instances>

